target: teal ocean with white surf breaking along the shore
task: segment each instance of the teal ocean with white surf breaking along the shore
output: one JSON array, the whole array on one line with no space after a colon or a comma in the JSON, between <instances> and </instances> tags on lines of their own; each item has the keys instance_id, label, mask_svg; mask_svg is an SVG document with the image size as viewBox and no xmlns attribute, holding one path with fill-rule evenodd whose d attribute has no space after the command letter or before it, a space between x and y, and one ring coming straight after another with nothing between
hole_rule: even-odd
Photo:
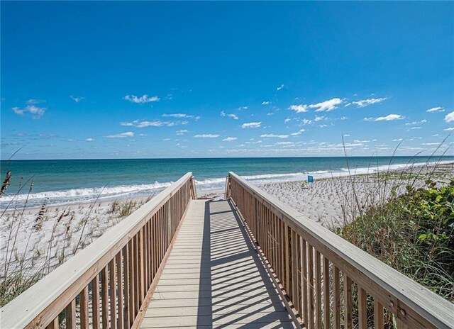
<instances>
[{"instance_id":1,"label":"teal ocean with white surf breaking along the shore","mask_svg":"<svg viewBox=\"0 0 454 329\"><path fill-rule=\"evenodd\" d=\"M186 172L196 188L223 189L229 171L255 184L297 181L399 169L412 163L453 162L454 157L262 157L129 160L1 161L1 181L11 170L11 185L0 197L0 208L11 201L22 206L60 204L94 199L125 199L157 194ZM33 187L29 193L31 183ZM16 195L17 194L17 195Z\"/></svg>"}]
</instances>

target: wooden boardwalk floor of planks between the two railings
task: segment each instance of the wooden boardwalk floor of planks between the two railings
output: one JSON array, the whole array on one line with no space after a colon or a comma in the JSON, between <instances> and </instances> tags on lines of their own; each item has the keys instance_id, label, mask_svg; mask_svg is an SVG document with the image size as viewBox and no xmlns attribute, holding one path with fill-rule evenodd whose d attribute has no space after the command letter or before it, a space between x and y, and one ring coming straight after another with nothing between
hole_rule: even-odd
<instances>
[{"instance_id":1,"label":"wooden boardwalk floor of planks between the two railings","mask_svg":"<svg viewBox=\"0 0 454 329\"><path fill-rule=\"evenodd\" d=\"M190 201L140 328L294 328L230 201Z\"/></svg>"}]
</instances>

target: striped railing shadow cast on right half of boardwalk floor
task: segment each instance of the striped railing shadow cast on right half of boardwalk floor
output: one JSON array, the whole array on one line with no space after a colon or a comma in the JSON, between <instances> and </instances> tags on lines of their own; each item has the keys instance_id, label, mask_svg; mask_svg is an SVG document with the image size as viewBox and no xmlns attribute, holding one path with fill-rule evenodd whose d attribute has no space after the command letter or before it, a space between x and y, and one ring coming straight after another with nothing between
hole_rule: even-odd
<instances>
[{"instance_id":1,"label":"striped railing shadow cast on right half of boardwalk floor","mask_svg":"<svg viewBox=\"0 0 454 329\"><path fill-rule=\"evenodd\" d=\"M205 216L210 221L205 223L204 239L210 243L204 240L201 269L206 270L209 252L210 278L203 284L211 286L212 316L204 325L294 328L233 203L207 201Z\"/></svg>"}]
</instances>

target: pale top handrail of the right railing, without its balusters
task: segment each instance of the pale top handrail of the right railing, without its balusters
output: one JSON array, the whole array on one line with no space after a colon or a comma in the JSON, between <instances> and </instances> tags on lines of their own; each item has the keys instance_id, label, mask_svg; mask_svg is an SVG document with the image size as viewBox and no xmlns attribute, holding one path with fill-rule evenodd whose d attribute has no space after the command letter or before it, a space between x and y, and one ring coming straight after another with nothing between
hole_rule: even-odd
<instances>
[{"instance_id":1,"label":"pale top handrail of the right railing, without its balusters","mask_svg":"<svg viewBox=\"0 0 454 329\"><path fill-rule=\"evenodd\" d=\"M245 195L253 196L256 202L262 203L268 211L282 218L290 230L301 235L309 245L335 264L337 269L340 269L350 280L368 291L375 301L382 305L391 305L387 308L388 311L393 313L404 325L416 328L450 328L453 326L454 306L452 303L423 288L404 274L368 255L367 252L360 250L321 225L314 223L233 172L229 172L228 177L229 184L232 186L231 199L236 202L244 217L248 217L248 208L241 200L245 198ZM288 274L286 275L288 276ZM336 295L336 291L333 291L333 294ZM333 320L336 325L340 325L340 321L336 321L336 308L333 311L335 311Z\"/></svg>"}]
</instances>

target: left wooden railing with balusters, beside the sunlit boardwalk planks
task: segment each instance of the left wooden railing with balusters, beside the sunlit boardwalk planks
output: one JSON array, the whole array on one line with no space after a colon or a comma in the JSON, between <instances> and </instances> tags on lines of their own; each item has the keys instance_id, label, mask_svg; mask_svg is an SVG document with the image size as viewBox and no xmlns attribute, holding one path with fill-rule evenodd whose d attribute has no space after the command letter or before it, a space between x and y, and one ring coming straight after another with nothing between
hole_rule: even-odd
<instances>
[{"instance_id":1,"label":"left wooden railing with balusters, beside the sunlit boardwalk planks","mask_svg":"<svg viewBox=\"0 0 454 329\"><path fill-rule=\"evenodd\" d=\"M137 328L194 192L189 172L4 306L0 327Z\"/></svg>"}]
</instances>

